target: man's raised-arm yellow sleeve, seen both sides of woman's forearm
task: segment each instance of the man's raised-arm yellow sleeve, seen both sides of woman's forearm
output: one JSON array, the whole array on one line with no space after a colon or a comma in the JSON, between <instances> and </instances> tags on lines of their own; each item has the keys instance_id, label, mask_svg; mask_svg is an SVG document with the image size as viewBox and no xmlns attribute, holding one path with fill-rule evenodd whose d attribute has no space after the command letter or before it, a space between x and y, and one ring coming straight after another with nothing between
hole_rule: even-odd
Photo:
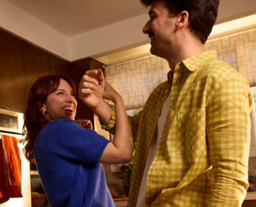
<instances>
[{"instance_id":1,"label":"man's raised-arm yellow sleeve, seen both sides of woman's forearm","mask_svg":"<svg viewBox=\"0 0 256 207\"><path fill-rule=\"evenodd\" d=\"M115 135L115 121L116 121L116 112L115 112L115 106L110 105L111 107L111 117L108 125L103 125L103 123L100 121L101 128L110 132L111 134ZM142 109L143 110L143 109ZM142 111L141 110L141 111ZM129 125L131 127L132 131L132 142L135 143L137 140L137 134L138 134L138 128L139 128L139 122L141 117L141 111L134 115L134 116L128 116Z\"/></svg>"}]
</instances>

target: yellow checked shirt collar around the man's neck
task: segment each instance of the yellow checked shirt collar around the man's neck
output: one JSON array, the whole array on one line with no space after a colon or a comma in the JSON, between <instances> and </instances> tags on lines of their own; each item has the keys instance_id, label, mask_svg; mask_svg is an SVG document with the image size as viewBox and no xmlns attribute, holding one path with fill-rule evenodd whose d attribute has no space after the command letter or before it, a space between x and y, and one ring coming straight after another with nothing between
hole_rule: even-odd
<instances>
[{"instance_id":1,"label":"yellow checked shirt collar around the man's neck","mask_svg":"<svg viewBox=\"0 0 256 207\"><path fill-rule=\"evenodd\" d=\"M181 63L183 63L186 66L186 68L188 68L188 70L193 72L197 68L199 68L200 65L202 65L206 61L209 61L209 59L217 59L216 50L207 50L204 52L200 52L199 54L196 54L195 56L185 59ZM177 65L180 65L180 63Z\"/></svg>"}]
</instances>

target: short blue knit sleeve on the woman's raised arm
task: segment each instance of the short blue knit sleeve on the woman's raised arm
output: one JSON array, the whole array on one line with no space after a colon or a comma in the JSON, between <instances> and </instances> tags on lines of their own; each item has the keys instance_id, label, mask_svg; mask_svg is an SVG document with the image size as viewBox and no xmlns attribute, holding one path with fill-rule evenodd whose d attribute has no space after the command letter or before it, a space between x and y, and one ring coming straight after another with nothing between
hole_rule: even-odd
<instances>
[{"instance_id":1,"label":"short blue knit sleeve on the woman's raised arm","mask_svg":"<svg viewBox=\"0 0 256 207\"><path fill-rule=\"evenodd\" d=\"M63 119L54 120L48 136L48 145L54 155L94 164L99 162L109 142L94 130Z\"/></svg>"}]
</instances>

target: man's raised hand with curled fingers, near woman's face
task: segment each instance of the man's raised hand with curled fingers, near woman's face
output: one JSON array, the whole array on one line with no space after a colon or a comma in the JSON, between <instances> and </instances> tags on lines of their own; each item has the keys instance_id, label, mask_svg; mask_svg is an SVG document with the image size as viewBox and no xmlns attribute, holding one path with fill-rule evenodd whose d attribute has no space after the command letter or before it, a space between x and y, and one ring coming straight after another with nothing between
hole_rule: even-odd
<instances>
[{"instance_id":1,"label":"man's raised hand with curled fingers, near woman's face","mask_svg":"<svg viewBox=\"0 0 256 207\"><path fill-rule=\"evenodd\" d=\"M104 76L103 73L98 75L98 81L91 77L97 75L98 70L88 70L83 75L79 84L79 98L88 105L91 109L96 109L99 106L100 101L103 100L102 95L104 93Z\"/></svg>"}]
</instances>

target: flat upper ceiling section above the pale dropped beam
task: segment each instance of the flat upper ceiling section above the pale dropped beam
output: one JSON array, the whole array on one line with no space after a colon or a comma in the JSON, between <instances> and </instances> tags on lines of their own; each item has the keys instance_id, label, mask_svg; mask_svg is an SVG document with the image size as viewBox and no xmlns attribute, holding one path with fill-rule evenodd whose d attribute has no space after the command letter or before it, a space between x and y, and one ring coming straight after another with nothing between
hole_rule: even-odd
<instances>
[{"instance_id":1,"label":"flat upper ceiling section above the pale dropped beam","mask_svg":"<svg viewBox=\"0 0 256 207\"><path fill-rule=\"evenodd\" d=\"M65 36L147 13L139 0L8 0ZM104 35L104 34L102 34Z\"/></svg>"}]
</instances>

